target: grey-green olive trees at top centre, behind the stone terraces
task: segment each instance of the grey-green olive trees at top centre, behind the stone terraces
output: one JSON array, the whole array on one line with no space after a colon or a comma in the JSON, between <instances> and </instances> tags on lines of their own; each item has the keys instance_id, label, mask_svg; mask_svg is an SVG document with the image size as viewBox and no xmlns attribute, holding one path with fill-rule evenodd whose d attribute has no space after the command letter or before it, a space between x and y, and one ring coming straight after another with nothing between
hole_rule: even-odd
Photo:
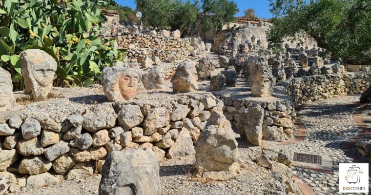
<instances>
[{"instance_id":1,"label":"grey-green olive trees at top centre, behind the stone terraces","mask_svg":"<svg viewBox=\"0 0 371 195\"><path fill-rule=\"evenodd\" d=\"M202 29L221 29L234 20L237 5L230 0L135 0L137 8L143 13L146 25L159 28L170 27L181 32L189 26L202 24Z\"/></svg>"}]
</instances>

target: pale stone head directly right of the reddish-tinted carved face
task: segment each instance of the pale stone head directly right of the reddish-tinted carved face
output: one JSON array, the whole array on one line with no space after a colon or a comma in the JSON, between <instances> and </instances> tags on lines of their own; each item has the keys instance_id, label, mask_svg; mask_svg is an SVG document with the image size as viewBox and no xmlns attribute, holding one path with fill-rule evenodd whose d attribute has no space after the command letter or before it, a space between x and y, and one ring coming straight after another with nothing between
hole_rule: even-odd
<instances>
[{"instance_id":1,"label":"pale stone head directly right of the reddish-tinted carved face","mask_svg":"<svg viewBox=\"0 0 371 195\"><path fill-rule=\"evenodd\" d=\"M150 67L142 77L145 89L164 89L165 71L163 66Z\"/></svg>"}]
</instances>

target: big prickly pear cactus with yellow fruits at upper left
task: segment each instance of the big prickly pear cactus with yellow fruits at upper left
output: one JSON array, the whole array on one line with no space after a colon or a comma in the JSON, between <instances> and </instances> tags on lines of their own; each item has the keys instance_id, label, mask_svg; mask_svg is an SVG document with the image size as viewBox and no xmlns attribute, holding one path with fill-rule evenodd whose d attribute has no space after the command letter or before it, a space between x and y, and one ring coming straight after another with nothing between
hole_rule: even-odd
<instances>
[{"instance_id":1,"label":"big prickly pear cactus with yellow fruits at upper left","mask_svg":"<svg viewBox=\"0 0 371 195\"><path fill-rule=\"evenodd\" d=\"M89 86L104 66L124 58L112 40L100 39L104 0L2 0L0 65L23 87L19 55L37 48L56 59L57 83Z\"/></svg>"}]
</instances>

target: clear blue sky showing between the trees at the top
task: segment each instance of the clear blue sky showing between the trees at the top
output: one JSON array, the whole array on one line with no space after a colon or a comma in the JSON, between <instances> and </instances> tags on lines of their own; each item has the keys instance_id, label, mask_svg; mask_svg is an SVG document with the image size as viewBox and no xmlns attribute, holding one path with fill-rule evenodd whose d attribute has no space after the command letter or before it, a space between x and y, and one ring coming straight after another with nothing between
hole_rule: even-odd
<instances>
[{"instance_id":1,"label":"clear blue sky showing between the trees at the top","mask_svg":"<svg viewBox=\"0 0 371 195\"><path fill-rule=\"evenodd\" d=\"M240 10L236 16L243 16L244 10L252 7L256 11L256 15L260 18L271 18L272 15L269 13L269 2L268 0L233 0L237 3L237 7ZM116 0L121 5L130 6L135 9L134 0Z\"/></svg>"}]
</instances>

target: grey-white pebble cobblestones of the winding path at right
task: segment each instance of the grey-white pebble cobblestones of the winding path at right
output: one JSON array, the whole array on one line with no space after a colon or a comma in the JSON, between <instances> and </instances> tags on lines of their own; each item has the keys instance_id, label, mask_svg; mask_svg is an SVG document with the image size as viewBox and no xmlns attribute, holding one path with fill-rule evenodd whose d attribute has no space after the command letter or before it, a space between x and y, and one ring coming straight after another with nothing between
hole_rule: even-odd
<instances>
[{"instance_id":1,"label":"grey-white pebble cobblestones of the winding path at right","mask_svg":"<svg viewBox=\"0 0 371 195\"><path fill-rule=\"evenodd\" d=\"M332 173L292 167L293 174L308 183L317 195L342 194L339 193L339 163L356 161L346 156L344 143L361 132L352 116L356 104L350 105L358 102L359 97L358 95L330 98L303 105L296 113L302 128L306 129L304 140L278 146L290 152L324 155L332 159Z\"/></svg>"}]
</instances>

